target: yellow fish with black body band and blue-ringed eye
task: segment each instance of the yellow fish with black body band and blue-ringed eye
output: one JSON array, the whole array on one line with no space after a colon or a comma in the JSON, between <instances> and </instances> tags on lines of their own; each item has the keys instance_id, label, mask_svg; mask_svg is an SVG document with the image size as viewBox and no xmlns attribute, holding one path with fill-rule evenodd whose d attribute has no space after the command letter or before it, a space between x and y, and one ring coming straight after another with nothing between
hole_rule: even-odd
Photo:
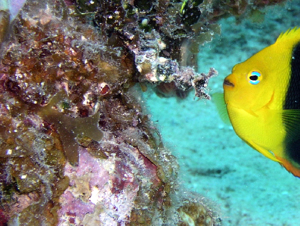
<instances>
[{"instance_id":1,"label":"yellow fish with black body band and blue-ringed eye","mask_svg":"<svg viewBox=\"0 0 300 226\"><path fill-rule=\"evenodd\" d=\"M300 177L300 28L236 64L223 88L236 134Z\"/></svg>"}]
</instances>

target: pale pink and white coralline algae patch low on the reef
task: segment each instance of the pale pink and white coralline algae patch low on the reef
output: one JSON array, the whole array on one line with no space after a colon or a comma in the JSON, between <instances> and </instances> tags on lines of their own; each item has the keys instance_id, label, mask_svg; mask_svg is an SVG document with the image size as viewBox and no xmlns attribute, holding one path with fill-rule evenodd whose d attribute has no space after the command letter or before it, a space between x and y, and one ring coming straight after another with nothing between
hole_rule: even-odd
<instances>
[{"instance_id":1,"label":"pale pink and white coralline algae patch low on the reef","mask_svg":"<svg viewBox=\"0 0 300 226\"><path fill-rule=\"evenodd\" d=\"M138 158L138 151L131 149L131 154L135 155L132 157ZM68 225L73 219L82 223L88 223L90 219L98 223L110 221L111 225L130 222L130 212L139 190L136 178L139 174L134 173L138 167L119 157L110 158L97 159L80 149L78 166L66 165L65 175L70 178L70 186L60 196L58 225Z\"/></svg>"}]
</instances>

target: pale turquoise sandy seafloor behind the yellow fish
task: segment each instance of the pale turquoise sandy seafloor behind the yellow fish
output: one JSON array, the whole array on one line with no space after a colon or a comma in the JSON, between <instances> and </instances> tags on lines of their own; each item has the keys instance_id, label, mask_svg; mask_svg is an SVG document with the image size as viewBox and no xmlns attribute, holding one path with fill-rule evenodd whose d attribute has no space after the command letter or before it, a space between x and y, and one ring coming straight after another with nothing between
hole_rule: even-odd
<instances>
[{"instance_id":1,"label":"pale turquoise sandy seafloor behind the yellow fish","mask_svg":"<svg viewBox=\"0 0 300 226\"><path fill-rule=\"evenodd\" d=\"M209 81L210 94L222 91L234 64L273 43L281 31L300 25L299 0L264 12L262 23L222 19L221 35L200 47L199 72L211 66L219 72ZM150 91L144 96L166 146L178 157L180 185L215 201L223 225L300 225L300 178L239 139L212 101L196 101L193 92L184 100Z\"/></svg>"}]
</instances>

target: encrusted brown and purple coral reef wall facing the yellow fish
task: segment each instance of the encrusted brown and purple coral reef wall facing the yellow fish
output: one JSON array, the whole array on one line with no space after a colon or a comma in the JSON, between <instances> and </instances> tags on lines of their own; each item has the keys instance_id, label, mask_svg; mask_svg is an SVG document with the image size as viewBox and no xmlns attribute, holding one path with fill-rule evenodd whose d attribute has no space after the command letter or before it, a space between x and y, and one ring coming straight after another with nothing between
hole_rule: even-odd
<instances>
[{"instance_id":1,"label":"encrusted brown and purple coral reef wall facing the yellow fish","mask_svg":"<svg viewBox=\"0 0 300 226\"><path fill-rule=\"evenodd\" d=\"M236 2L27 0L3 16L0 225L219 225L178 186L140 92L209 98L216 71L195 53Z\"/></svg>"}]
</instances>

